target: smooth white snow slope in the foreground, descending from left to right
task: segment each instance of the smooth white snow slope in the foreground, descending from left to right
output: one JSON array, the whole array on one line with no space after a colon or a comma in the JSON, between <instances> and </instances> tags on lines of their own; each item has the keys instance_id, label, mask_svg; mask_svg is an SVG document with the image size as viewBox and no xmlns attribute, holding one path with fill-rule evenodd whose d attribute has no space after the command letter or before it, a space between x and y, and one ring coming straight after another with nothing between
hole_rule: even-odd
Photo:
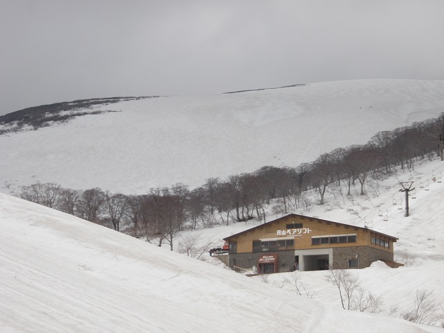
<instances>
[{"instance_id":1,"label":"smooth white snow slope in the foreground, descending from left to right","mask_svg":"<svg viewBox=\"0 0 444 333\"><path fill-rule=\"evenodd\" d=\"M442 332L334 309L6 194L0 228L3 333Z\"/></svg>"}]
</instances>

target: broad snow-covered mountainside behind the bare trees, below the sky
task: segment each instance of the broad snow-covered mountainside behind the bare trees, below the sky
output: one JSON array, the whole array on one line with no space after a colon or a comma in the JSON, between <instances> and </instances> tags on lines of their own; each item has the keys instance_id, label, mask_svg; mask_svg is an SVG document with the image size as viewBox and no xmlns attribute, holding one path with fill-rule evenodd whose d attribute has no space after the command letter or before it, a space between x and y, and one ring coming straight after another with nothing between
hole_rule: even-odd
<instances>
[{"instance_id":1,"label":"broad snow-covered mountainside behind the bare trees, below the sky","mask_svg":"<svg viewBox=\"0 0 444 333\"><path fill-rule=\"evenodd\" d=\"M120 112L1 136L0 191L40 181L144 194L266 165L296 167L436 117L443 96L443 80L350 80L100 105L89 111Z\"/></svg>"}]
</instances>

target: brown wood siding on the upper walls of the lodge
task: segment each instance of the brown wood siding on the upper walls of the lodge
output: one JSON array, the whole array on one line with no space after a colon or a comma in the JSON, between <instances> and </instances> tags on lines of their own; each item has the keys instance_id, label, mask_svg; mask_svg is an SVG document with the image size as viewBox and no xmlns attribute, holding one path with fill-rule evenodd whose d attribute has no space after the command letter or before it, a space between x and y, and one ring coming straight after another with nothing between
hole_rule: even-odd
<instances>
[{"instance_id":1,"label":"brown wood siding on the upper walls of the lodge","mask_svg":"<svg viewBox=\"0 0 444 333\"><path fill-rule=\"evenodd\" d=\"M230 242L237 241L237 253L252 253L253 241L259 239L287 239L287 236L278 234L278 230L287 230L286 225L291 223L302 223L302 230L298 228L295 234L291 231L290 237L294 237L294 249L306 250L313 248L342 248L347 246L371 246L379 250L385 250L389 253L393 253L393 239L390 237L383 237L377 234L379 239L388 240L390 242L390 248L384 248L384 246L377 246L371 243L372 230L363 228L355 228L352 225L342 225L340 223L318 221L317 219L311 219L308 217L301 218L289 216L287 219L282 219L277 223L270 223L255 228L251 231L246 231L236 237L230 237ZM283 233L283 232L281 232ZM356 234L357 241L351 243L339 243L339 244L318 244L311 245L311 238L316 236L330 236L341 234Z\"/></svg>"}]
</instances>

